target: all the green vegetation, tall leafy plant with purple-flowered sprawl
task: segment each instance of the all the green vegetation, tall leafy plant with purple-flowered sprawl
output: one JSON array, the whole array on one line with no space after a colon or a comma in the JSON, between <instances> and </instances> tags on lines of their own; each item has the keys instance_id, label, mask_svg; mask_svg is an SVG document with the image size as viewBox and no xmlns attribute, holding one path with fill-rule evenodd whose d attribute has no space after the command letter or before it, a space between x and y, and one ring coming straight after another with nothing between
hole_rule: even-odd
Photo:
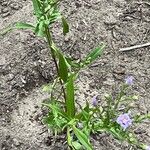
<instances>
[{"instance_id":1,"label":"all the green vegetation, tall leafy plant with purple-flowered sprawl","mask_svg":"<svg viewBox=\"0 0 150 150\"><path fill-rule=\"evenodd\" d=\"M44 91L50 93L50 98L47 103L43 104L49 109L43 122L55 135L65 132L70 149L92 150L90 135L92 133L107 132L120 141L127 141L141 149L150 150L149 146L137 140L136 135L130 129L133 124L150 118L150 114L132 116L129 113L132 111L131 102L138 99L136 95L128 95L128 91L134 83L134 78L128 76L125 79L116 97L111 94L105 95L104 105L98 104L95 95L92 99L92 105L86 101L85 106L80 105L77 109L75 80L80 70L90 65L102 54L105 44L93 49L82 60L76 61L66 56L54 43L51 28L57 20L61 19L63 34L66 35L69 32L69 25L58 9L60 1L32 0L32 2L37 19L36 24L15 23L5 29L2 34L16 28L30 29L37 36L46 40L48 44L57 70L57 77L52 84L44 86ZM60 89L59 95L56 94L57 87ZM120 106L124 106L124 108L120 109Z\"/></svg>"}]
</instances>

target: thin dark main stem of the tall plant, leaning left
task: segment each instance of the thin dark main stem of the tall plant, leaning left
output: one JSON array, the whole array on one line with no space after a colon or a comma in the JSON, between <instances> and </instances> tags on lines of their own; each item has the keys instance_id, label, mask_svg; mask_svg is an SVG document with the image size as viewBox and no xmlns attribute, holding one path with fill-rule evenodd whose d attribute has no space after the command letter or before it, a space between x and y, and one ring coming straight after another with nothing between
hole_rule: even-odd
<instances>
[{"instance_id":1,"label":"thin dark main stem of the tall plant, leaning left","mask_svg":"<svg viewBox=\"0 0 150 150\"><path fill-rule=\"evenodd\" d=\"M54 52L54 50L51 48L51 46L52 46L51 34L50 34L50 31L49 31L49 28L48 28L48 27L45 27L45 29L46 29L46 39L47 39L49 48L50 48L50 50L51 50L51 55L52 55L53 61L54 61L54 63L55 63L55 67L56 67L57 74L58 74L58 76L59 76L59 68L58 68L58 64L57 64L56 57L55 57L55 52ZM60 84L61 84L61 86L62 86L63 96L64 96L64 100L65 100L65 102L66 102L65 88L64 88L63 82L62 82L62 80L61 80L60 78L59 78L59 82L60 82ZM65 106L65 110L66 110L66 106Z\"/></svg>"}]
</instances>

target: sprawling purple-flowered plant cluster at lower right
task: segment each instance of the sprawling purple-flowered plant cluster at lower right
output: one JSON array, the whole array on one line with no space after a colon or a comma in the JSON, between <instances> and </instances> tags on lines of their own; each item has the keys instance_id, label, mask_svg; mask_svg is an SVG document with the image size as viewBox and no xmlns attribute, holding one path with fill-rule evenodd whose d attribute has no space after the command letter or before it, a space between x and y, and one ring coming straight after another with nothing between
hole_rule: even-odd
<instances>
[{"instance_id":1,"label":"sprawling purple-flowered plant cluster at lower right","mask_svg":"<svg viewBox=\"0 0 150 150\"><path fill-rule=\"evenodd\" d=\"M129 113L129 110L131 111L130 107L125 104L126 101L133 101L137 100L137 96L128 96L126 93L128 93L128 89L134 84L134 77L128 76L125 78L125 83L121 87L120 93L116 96L116 98L112 98L111 95L107 95L106 106L98 106L98 102L96 99L96 96L92 99L93 107L99 108L99 116L100 119L96 123L96 121L93 123L93 126L96 126L96 131L105 131L110 134L112 134L115 138L119 140L124 140L129 142L132 145L137 146L138 148L141 148L143 150L150 150L150 146L147 146L143 143L140 143L136 135L130 130L130 127L132 127L133 124L136 124L138 122L141 122L144 119L149 119L150 114L146 115L139 115L139 116L131 116ZM119 106L125 104L126 108L120 112ZM129 103L130 104L130 103ZM101 112L100 112L101 110ZM99 126L97 126L99 125Z\"/></svg>"}]
</instances>

